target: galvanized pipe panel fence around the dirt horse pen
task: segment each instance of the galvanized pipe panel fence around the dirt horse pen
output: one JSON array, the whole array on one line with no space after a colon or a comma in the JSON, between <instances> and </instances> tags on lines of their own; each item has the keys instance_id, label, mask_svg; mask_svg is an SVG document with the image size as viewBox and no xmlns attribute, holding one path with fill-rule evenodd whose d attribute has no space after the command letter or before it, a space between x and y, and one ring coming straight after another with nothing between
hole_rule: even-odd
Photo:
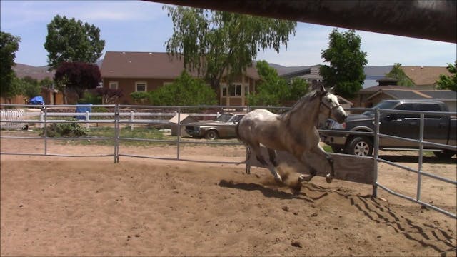
<instances>
[{"instance_id":1,"label":"galvanized pipe panel fence around the dirt horse pen","mask_svg":"<svg viewBox=\"0 0 457 257\"><path fill-rule=\"evenodd\" d=\"M79 104L78 106L84 106L84 104ZM89 105L88 105L89 106ZM189 125L196 125L199 123L186 123L183 124L181 123L181 115L182 114L191 114L192 116L201 116L201 117L211 117L214 119L215 116L218 116L220 113L217 112L216 114L214 113L209 113L209 114L203 114L203 113L189 113L189 112L183 112L183 110L186 109L220 109L221 112L231 112L231 111L243 111L243 112L248 112L253 109L270 109L273 112L281 112L281 111L286 111L289 108L288 107L263 107L263 106L133 106L133 105L119 105L119 104L113 104L113 105L90 105L91 108L105 108L109 109L110 111L108 112L86 112L85 114L81 113L76 113L76 112L53 112L53 109L56 108L75 108L74 105L59 105L59 106L36 106L37 108L40 108L39 111L23 111L23 110L13 110L11 114L7 114L8 111L10 110L4 110L5 107L13 107L13 108L20 108L20 107L25 107L25 108L30 108L34 106L24 106L24 105L15 105L15 104L0 104L1 107L1 129L11 129L11 124L14 124L14 128L16 128L18 125L17 124L40 124L40 127L44 129L44 136L39 136L39 137L22 137L22 136L0 136L0 138L9 138L9 139L34 139L34 140L42 140L44 141L44 153L14 153L14 152L0 152L0 154L8 154L8 155L26 155L26 156L64 156L64 157L101 157L101 156L112 156L114 158L114 163L119 163L119 157L120 156L126 156L126 157L134 157L134 158L155 158L155 159L164 159L164 160L174 160L174 161L194 161L194 162L203 162L203 163L227 163L227 164L235 164L237 162L234 161L200 161L200 160L194 160L194 159L185 159L181 158L180 156L180 146L181 144L187 144L187 143L192 143L192 144L214 144L214 145L242 145L241 143L235 143L235 142L223 142L223 141L185 141L182 140L181 136L181 126L189 126ZM136 112L136 111L125 111L125 109L171 109L173 111L169 112ZM361 111L367 111L367 110L373 110L373 109L363 109L363 108L352 108L352 109L346 109L346 111L356 111L356 112L361 112ZM11 112L11 111L10 111ZM380 121L380 116L381 114L391 114L391 113L396 113L396 114L419 114L420 115L420 133L419 133L419 138L416 139L411 139L411 138L399 138L396 136L391 136L387 134L380 133L379 130L379 121ZM422 182L422 176L427 176L428 178L433 178L438 181L443 181L445 183L450 183L454 186L457 186L457 181L451 180L449 178L444 178L442 176L437 176L433 173L428 173L422 170L423 166L423 150L424 146L434 146L446 150L451 150L451 151L457 151L456 146L449 146L449 145L444 145L440 143L433 143L429 141L424 141L423 139L423 131L424 131L424 117L425 115L456 115L455 113L443 113L443 112L433 112L433 111L401 111L401 110L391 110L391 109L375 109L375 121L374 121L374 131L373 132L358 132L358 131L345 131L346 134L350 135L363 135L363 136L371 136L373 137L373 160L375 161L374 165L374 179L373 179L373 197L377 197L378 195L378 188L383 189L384 191L391 193L394 196L398 196L400 198L406 199L408 201L412 201L414 203L418 203L421 206L426 206L428 208L431 208L435 211L438 211L440 213L445 214L446 216L450 216L452 218L457 218L456 213L451 213L449 211L444 210L443 208L439 208L438 206L433 206L431 203L426 203L421 200L421 182ZM76 121L69 121L68 119L55 119L56 116L81 116L84 115L84 119L76 120ZM32 117L38 117L39 119L31 119ZM93 117L97 116L112 116L113 119L92 119ZM139 125L139 124L146 124L146 125L154 125L154 126L170 126L169 119L136 119L136 117L141 117L141 116L159 116L159 117L171 117L171 116L177 116L177 123L175 124L177 127L177 135L176 135L176 140L163 140L163 139L148 139L148 138L126 138L121 136L121 125L129 125L130 129L133 130L134 126ZM54 118L53 118L54 117ZM112 124L114 125L114 136L113 137L74 137L74 138L51 138L47 136L46 131L47 131L47 126L49 124L58 124L58 123L77 123L77 124L86 124L86 128L89 128L89 124ZM326 129L319 129L318 131L330 131ZM394 163L391 161L387 161L386 159L383 159L379 156L379 139L380 138L393 138L396 140L402 140L402 141L410 141L414 143L418 143L419 150L418 150L418 168L410 168L408 166L403 166L398 163ZM59 154L59 153L48 153L47 152L47 142L49 140L110 140L113 142L114 145L114 151L113 153L109 154L87 154L87 155L68 155L68 154ZM140 155L134 155L134 154L126 154L126 153L121 153L119 150L119 146L121 144L121 141L149 141L149 142L159 142L159 143L172 143L176 144L176 157L174 158L166 158L166 157L154 157L154 156L140 156ZM396 191L393 191L391 188L388 188L385 185L382 185L381 183L378 182L378 163L387 163L388 165L395 166L397 168L402 168L406 171L412 172L412 173L417 173L417 190L416 190L416 196L406 196L402 193L398 193ZM247 169L247 164L246 164L246 169Z\"/></svg>"}]
</instances>

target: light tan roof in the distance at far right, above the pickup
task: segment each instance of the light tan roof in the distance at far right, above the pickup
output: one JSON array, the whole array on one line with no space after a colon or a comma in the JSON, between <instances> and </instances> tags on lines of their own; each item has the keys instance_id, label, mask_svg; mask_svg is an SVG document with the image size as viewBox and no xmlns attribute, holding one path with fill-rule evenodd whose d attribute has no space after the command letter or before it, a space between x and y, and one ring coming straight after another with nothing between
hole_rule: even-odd
<instances>
[{"instance_id":1,"label":"light tan roof in the distance at far right, above the pickup","mask_svg":"<svg viewBox=\"0 0 457 257\"><path fill-rule=\"evenodd\" d=\"M406 76L416 85L433 85L440 75L451 76L447 67L437 66L401 66Z\"/></svg>"}]
</instances>

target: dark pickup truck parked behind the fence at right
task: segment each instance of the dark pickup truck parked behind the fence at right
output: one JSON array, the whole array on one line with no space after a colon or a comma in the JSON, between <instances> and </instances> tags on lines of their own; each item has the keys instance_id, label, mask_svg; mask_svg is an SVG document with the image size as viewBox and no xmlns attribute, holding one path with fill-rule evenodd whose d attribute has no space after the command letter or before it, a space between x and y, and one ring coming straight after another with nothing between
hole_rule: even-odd
<instances>
[{"instance_id":1,"label":"dark pickup truck parked behind the fence at right","mask_svg":"<svg viewBox=\"0 0 457 257\"><path fill-rule=\"evenodd\" d=\"M408 111L443 111L448 112L448 106L441 101L422 99L385 100L373 107L372 110L363 114L350 114L343 124L328 119L321 137L323 142L331 146L333 152L347 153L358 156L371 156L373 154L373 136L354 135L345 131L373 132L375 111L374 109L393 109ZM402 138L419 139L420 115L411 114L388 114L379 116L379 133ZM457 119L448 114L426 114L424 116L424 141L456 146ZM379 139L380 149L418 149L419 144L404 140L383 138ZM443 150L433 146L424 145L424 149L430 149L438 158L452 158L456 151Z\"/></svg>"}]
</instances>

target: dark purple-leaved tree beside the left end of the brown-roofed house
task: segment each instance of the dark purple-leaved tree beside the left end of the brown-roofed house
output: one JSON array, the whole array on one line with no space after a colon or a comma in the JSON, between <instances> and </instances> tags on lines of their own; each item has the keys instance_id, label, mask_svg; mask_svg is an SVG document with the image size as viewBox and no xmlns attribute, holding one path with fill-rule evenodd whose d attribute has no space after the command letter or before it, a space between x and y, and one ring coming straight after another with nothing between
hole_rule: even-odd
<instances>
[{"instance_id":1,"label":"dark purple-leaved tree beside the left end of the brown-roofed house","mask_svg":"<svg viewBox=\"0 0 457 257\"><path fill-rule=\"evenodd\" d=\"M95 89L101 81L99 66L81 61L64 62L56 70L54 79L64 84L65 89L74 90L79 98L84 96L86 89Z\"/></svg>"}]
</instances>

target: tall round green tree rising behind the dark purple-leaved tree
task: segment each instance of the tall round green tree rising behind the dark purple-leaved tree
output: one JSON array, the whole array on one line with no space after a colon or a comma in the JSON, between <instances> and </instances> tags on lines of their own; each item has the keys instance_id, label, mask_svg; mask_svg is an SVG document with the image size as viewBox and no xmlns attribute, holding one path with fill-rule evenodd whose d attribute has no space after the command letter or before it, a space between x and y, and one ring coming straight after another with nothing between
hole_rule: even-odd
<instances>
[{"instance_id":1,"label":"tall round green tree rising behind the dark purple-leaved tree","mask_svg":"<svg viewBox=\"0 0 457 257\"><path fill-rule=\"evenodd\" d=\"M48 24L44 48L48 51L49 69L56 69L62 62L83 61L94 64L105 47L100 39L100 29L87 22L55 16Z\"/></svg>"}]
</instances>

